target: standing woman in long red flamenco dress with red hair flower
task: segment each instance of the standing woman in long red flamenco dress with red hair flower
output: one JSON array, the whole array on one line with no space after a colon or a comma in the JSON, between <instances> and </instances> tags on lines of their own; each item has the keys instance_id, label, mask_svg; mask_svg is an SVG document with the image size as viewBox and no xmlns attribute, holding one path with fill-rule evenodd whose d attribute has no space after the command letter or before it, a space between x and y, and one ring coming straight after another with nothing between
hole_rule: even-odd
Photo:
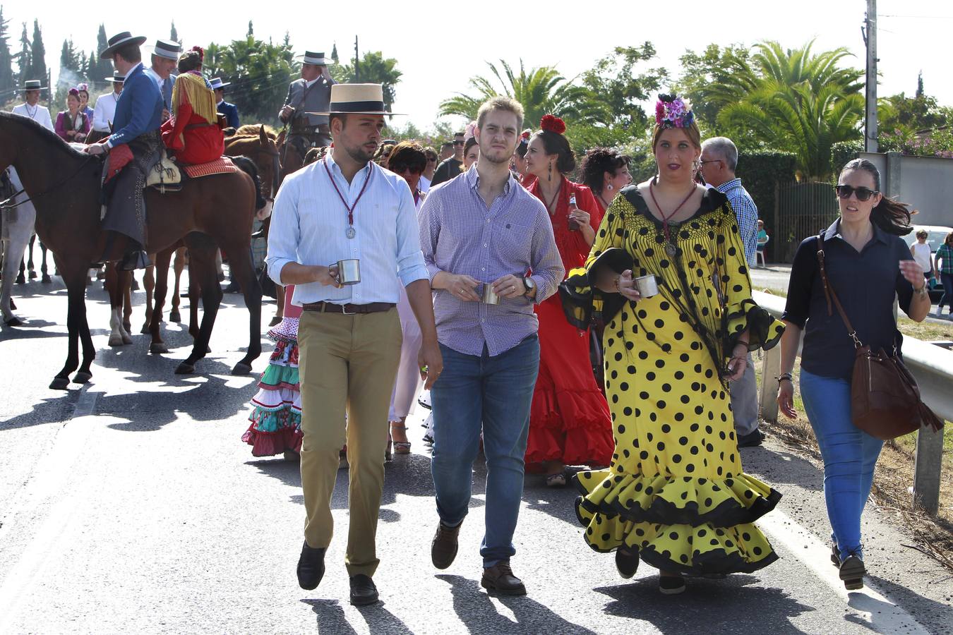
<instances>
[{"instance_id":1,"label":"standing woman in long red flamenco dress with red hair flower","mask_svg":"<svg viewBox=\"0 0 953 635\"><path fill-rule=\"evenodd\" d=\"M546 206L562 264L585 263L602 214L592 192L565 177L576 157L562 120L546 115L529 141L527 187ZM607 466L614 441L609 406L589 358L589 332L570 325L556 294L537 305L539 377L530 410L526 464L546 474L546 485L565 486L565 466Z\"/></svg>"}]
</instances>

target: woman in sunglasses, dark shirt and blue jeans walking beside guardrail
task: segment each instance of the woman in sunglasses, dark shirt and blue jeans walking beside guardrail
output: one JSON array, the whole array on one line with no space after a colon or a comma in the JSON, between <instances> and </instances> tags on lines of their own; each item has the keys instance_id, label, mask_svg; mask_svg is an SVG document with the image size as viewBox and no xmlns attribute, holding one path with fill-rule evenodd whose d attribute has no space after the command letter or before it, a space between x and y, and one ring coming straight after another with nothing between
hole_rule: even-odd
<instances>
[{"instance_id":1,"label":"woman in sunglasses, dark shirt and blue jeans walking beside guardrail","mask_svg":"<svg viewBox=\"0 0 953 635\"><path fill-rule=\"evenodd\" d=\"M900 349L894 298L910 319L921 322L930 309L923 268L900 236L910 232L910 212L883 196L881 174L866 159L841 169L837 195L841 216L823 232L829 286L873 350ZM801 351L801 399L821 448L824 499L831 535L831 562L848 589L863 586L861 514L870 495L882 441L851 423L850 386L854 341L841 315L828 307L818 262L819 237L801 243L791 268L782 321L778 406L788 418L794 409L795 357Z\"/></svg>"}]
</instances>

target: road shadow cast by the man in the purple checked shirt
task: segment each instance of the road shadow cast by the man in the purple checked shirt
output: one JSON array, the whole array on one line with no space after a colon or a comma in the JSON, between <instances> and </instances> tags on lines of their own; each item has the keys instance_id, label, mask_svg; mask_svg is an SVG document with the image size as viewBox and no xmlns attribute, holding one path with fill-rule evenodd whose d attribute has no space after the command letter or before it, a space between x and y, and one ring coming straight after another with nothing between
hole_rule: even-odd
<instances>
[{"instance_id":1,"label":"road shadow cast by the man in the purple checked shirt","mask_svg":"<svg viewBox=\"0 0 953 635\"><path fill-rule=\"evenodd\" d=\"M595 631L569 622L529 596L497 596L516 618L516 624L497 612L490 597L476 580L458 575L439 574L437 580L450 585L454 611L471 633L559 633L559 635L596 635Z\"/></svg>"}]
</instances>

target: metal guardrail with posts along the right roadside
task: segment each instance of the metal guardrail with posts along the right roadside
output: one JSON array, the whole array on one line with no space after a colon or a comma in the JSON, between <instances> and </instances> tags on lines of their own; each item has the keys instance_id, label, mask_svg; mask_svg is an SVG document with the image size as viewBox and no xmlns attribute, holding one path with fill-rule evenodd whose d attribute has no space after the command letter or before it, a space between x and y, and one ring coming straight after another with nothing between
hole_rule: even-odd
<instances>
[{"instance_id":1,"label":"metal guardrail with posts along the right roadside","mask_svg":"<svg viewBox=\"0 0 953 635\"><path fill-rule=\"evenodd\" d=\"M784 298L755 291L755 302L775 317L784 312ZM801 351L798 351L799 354ZM913 337L903 337L903 361L917 379L923 403L938 417L953 422L953 350ZM765 351L761 372L760 412L765 421L778 421L778 386L768 381L781 374L781 346ZM945 429L945 428L944 428ZM917 433L913 498L929 514L940 507L940 470L943 463L943 430L921 428Z\"/></svg>"}]
</instances>

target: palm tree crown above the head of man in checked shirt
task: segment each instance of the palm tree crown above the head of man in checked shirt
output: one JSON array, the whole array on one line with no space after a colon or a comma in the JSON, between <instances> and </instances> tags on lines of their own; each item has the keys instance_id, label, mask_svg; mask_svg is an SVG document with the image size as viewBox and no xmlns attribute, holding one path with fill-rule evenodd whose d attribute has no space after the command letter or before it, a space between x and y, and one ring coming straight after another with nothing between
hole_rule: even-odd
<instances>
[{"instance_id":1,"label":"palm tree crown above the head of man in checked shirt","mask_svg":"<svg viewBox=\"0 0 953 635\"><path fill-rule=\"evenodd\" d=\"M544 114L555 114L562 118L574 118L585 114L585 89L574 86L571 81L559 74L555 67L544 66L527 71L523 61L519 60L518 74L503 60L497 65L487 63L493 77L477 75L470 79L474 94L457 93L440 102L441 115L459 115L468 120L476 119L480 105L491 97L506 95L517 100L523 107L525 120L537 125ZM493 79L496 78L497 86Z\"/></svg>"}]
</instances>

